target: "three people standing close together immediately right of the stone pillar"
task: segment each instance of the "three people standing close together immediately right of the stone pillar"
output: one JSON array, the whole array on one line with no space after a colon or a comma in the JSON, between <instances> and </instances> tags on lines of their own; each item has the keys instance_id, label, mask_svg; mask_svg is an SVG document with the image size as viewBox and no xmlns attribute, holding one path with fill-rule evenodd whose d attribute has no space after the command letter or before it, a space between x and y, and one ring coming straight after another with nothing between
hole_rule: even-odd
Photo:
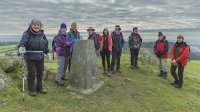
<instances>
[{"instance_id":1,"label":"three people standing close together immediately right of the stone pillar","mask_svg":"<svg viewBox=\"0 0 200 112\"><path fill-rule=\"evenodd\" d=\"M120 59L125 41L120 26L116 25L115 30L111 34L107 28L103 29L102 35L95 33L95 29L92 27L89 27L87 31L89 34L88 39L92 39L94 41L95 49L100 51L103 65L103 74L108 73L108 75L111 76L111 73L114 73L115 65L116 72L121 73ZM111 54L112 60L110 61ZM106 62L107 68L105 64Z\"/></svg>"}]
</instances>

